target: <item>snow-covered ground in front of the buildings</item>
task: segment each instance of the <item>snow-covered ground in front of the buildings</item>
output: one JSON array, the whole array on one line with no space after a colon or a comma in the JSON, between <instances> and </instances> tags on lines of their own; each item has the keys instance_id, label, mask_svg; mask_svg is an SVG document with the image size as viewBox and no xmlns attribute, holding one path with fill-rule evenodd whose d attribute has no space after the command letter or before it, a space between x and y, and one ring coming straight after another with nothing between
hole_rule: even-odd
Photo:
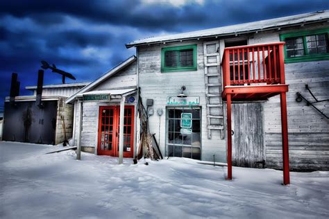
<instances>
[{"instance_id":1,"label":"snow-covered ground in front of the buildings","mask_svg":"<svg viewBox=\"0 0 329 219\"><path fill-rule=\"evenodd\" d=\"M329 218L329 173L140 162L0 142L0 218Z\"/></svg>"}]
</instances>

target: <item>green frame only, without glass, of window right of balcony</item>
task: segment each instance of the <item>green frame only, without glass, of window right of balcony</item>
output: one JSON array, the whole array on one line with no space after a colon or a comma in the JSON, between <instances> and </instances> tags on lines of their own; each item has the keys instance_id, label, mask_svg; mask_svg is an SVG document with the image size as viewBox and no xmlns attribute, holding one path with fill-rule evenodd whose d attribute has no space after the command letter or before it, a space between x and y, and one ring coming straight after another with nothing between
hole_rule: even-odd
<instances>
[{"instance_id":1,"label":"green frame only, without glass, of window right of balcony","mask_svg":"<svg viewBox=\"0 0 329 219\"><path fill-rule=\"evenodd\" d=\"M310 54L307 47L307 36L310 35L326 35L326 43L327 47L329 46L329 28L319 29L319 30L305 30L299 31L296 33L285 33L280 35L280 41L286 42L287 38L299 37L303 39L303 55L297 57L288 57L287 55L287 45L284 46L285 53L285 63L294 63L294 62L311 62L311 61L319 61L319 60L329 60L329 49L327 49L327 53L317 53Z\"/></svg>"}]
</instances>

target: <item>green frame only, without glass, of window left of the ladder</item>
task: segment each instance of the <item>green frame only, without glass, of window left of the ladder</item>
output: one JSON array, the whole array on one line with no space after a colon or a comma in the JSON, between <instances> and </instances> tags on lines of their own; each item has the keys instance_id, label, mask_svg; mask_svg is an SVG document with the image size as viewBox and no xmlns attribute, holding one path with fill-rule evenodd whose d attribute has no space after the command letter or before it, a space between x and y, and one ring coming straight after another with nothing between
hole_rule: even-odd
<instances>
[{"instance_id":1,"label":"green frame only, without glass, of window left of the ladder","mask_svg":"<svg viewBox=\"0 0 329 219\"><path fill-rule=\"evenodd\" d=\"M180 53L186 50L192 49L193 56L193 65L192 66L180 66ZM165 66L166 63L166 52L169 51L177 51L176 63L177 65L174 67ZM173 47L165 47L162 48L161 51L161 72L173 72L173 71L196 71L196 44L187 45L187 46L173 46Z\"/></svg>"}]
</instances>

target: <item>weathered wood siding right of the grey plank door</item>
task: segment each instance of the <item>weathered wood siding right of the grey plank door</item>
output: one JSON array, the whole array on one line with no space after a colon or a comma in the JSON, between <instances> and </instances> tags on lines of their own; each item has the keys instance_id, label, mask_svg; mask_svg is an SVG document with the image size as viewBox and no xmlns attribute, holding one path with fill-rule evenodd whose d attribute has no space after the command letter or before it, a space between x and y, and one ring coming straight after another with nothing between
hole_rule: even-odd
<instances>
[{"instance_id":1,"label":"weathered wood siding right of the grey plank door","mask_svg":"<svg viewBox=\"0 0 329 219\"><path fill-rule=\"evenodd\" d=\"M324 28L324 26L314 26ZM300 30L305 30L300 28ZM282 33L298 30L284 30ZM255 34L254 43L278 42L279 33ZM329 98L329 61L285 64L289 132L289 164L292 170L329 170L329 120L304 101L296 102L296 92L314 101L305 89L309 85L318 100ZM327 116L328 101L316 103ZM264 103L266 162L269 168L282 168L280 96Z\"/></svg>"}]
</instances>

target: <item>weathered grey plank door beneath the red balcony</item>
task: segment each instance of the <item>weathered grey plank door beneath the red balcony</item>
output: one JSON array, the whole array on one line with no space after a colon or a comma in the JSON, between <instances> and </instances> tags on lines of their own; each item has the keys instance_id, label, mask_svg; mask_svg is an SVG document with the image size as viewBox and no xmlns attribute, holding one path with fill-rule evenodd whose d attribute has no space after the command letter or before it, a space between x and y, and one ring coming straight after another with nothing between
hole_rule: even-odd
<instances>
[{"instance_id":1,"label":"weathered grey plank door beneath the red balcony","mask_svg":"<svg viewBox=\"0 0 329 219\"><path fill-rule=\"evenodd\" d=\"M265 160L262 103L232 105L233 166L262 167Z\"/></svg>"}]
</instances>

